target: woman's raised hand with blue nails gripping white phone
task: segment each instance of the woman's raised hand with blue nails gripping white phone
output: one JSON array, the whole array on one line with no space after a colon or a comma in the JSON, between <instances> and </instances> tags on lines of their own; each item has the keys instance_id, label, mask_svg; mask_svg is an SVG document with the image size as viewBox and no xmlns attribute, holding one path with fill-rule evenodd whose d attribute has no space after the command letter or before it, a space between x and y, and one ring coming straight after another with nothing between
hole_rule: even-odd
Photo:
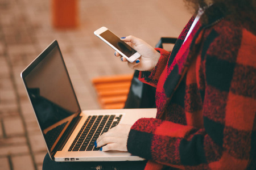
<instances>
[{"instance_id":1,"label":"woman's raised hand with blue nails gripping white phone","mask_svg":"<svg viewBox=\"0 0 256 170\"><path fill-rule=\"evenodd\" d=\"M152 48L152 46L134 36L122 37L121 40L127 42L127 44L141 54L141 58L137 59L135 62L127 62L131 69L152 71L155 68L160 58L160 53ZM127 61L127 59L122 57L118 52L115 52L115 56L121 57L121 61L123 62Z\"/></svg>"}]
</instances>

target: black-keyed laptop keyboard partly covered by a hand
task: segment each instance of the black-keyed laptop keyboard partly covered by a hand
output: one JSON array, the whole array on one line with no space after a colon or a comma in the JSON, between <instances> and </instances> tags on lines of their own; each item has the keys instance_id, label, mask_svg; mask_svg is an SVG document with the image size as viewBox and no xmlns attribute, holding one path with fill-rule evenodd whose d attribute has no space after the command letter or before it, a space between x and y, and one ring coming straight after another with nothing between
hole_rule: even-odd
<instances>
[{"instance_id":1,"label":"black-keyed laptop keyboard partly covered by a hand","mask_svg":"<svg viewBox=\"0 0 256 170\"><path fill-rule=\"evenodd\" d=\"M89 116L68 151L99 150L100 148L94 147L94 142L101 134L117 126L121 117L122 114Z\"/></svg>"}]
</instances>

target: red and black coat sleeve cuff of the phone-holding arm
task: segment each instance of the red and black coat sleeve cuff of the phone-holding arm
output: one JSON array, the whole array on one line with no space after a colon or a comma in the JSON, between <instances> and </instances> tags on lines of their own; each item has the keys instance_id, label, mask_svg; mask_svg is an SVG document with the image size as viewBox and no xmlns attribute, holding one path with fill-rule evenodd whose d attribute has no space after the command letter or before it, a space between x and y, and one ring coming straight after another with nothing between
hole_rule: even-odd
<instances>
[{"instance_id":1,"label":"red and black coat sleeve cuff of the phone-holding arm","mask_svg":"<svg viewBox=\"0 0 256 170\"><path fill-rule=\"evenodd\" d=\"M161 54L161 56L154 70L152 72L140 71L139 73L139 80L141 80L141 82L143 83L150 84L153 87L156 87L158 79L162 74L163 70L165 69L171 54L170 52L162 48L155 48L155 50L157 50Z\"/></svg>"}]
</instances>

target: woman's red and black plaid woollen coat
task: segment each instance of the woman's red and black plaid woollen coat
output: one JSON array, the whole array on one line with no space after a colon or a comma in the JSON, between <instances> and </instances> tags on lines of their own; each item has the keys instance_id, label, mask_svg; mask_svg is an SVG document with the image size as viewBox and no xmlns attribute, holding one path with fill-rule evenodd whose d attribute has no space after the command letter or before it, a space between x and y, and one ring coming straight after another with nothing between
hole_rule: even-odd
<instances>
[{"instance_id":1,"label":"woman's red and black plaid woollen coat","mask_svg":"<svg viewBox=\"0 0 256 170\"><path fill-rule=\"evenodd\" d=\"M192 22L172 53L157 49L152 73L141 72L156 87L158 113L133 125L128 151L150 160L146 169L255 169L255 23L220 12L183 44Z\"/></svg>"}]
</instances>

